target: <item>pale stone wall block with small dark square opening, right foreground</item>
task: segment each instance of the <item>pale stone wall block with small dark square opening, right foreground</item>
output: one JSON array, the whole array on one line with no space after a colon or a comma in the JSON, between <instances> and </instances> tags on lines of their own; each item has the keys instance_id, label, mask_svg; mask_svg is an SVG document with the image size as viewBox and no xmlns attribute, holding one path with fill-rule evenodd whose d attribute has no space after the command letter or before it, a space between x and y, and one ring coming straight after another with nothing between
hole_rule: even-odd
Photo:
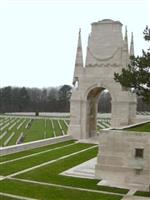
<instances>
[{"instance_id":1,"label":"pale stone wall block with small dark square opening, right foreground","mask_svg":"<svg viewBox=\"0 0 150 200\"><path fill-rule=\"evenodd\" d=\"M150 133L102 130L95 176L106 185L149 190Z\"/></svg>"}]
</instances>

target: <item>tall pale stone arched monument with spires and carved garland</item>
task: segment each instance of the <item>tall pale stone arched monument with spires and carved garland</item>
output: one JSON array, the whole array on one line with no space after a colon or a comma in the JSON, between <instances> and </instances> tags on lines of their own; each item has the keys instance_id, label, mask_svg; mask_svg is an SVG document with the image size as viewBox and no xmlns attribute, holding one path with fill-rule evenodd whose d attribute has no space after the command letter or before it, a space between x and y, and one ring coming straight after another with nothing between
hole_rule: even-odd
<instances>
[{"instance_id":1,"label":"tall pale stone arched monument with spires and carved garland","mask_svg":"<svg viewBox=\"0 0 150 200\"><path fill-rule=\"evenodd\" d=\"M133 50L132 41L131 54ZM109 90L112 98L111 126L116 128L134 123L136 96L114 81L114 73L121 72L129 64L130 53L127 28L123 38L122 24L104 19L92 23L84 65L79 31L68 130L74 138L96 135L97 102L104 89Z\"/></svg>"}]
</instances>

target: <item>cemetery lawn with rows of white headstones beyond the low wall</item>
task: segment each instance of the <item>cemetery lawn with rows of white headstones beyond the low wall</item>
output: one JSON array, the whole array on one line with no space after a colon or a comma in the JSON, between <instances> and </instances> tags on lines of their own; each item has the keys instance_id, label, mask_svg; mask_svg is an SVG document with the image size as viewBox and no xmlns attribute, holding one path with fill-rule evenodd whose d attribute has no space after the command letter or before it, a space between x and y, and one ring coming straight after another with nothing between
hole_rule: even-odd
<instances>
[{"instance_id":1,"label":"cemetery lawn with rows of white headstones beyond the low wall","mask_svg":"<svg viewBox=\"0 0 150 200\"><path fill-rule=\"evenodd\" d=\"M103 119L99 119L100 129L109 127L109 121L110 119L105 122ZM7 132L7 134L0 139L0 146L16 145L18 141L24 143L64 135L67 134L69 123L69 118L62 117L58 117L58 119L5 117L5 119L0 120L0 128L2 128L2 130L0 129L0 135L4 132ZM10 140L6 142L8 138Z\"/></svg>"}]
</instances>

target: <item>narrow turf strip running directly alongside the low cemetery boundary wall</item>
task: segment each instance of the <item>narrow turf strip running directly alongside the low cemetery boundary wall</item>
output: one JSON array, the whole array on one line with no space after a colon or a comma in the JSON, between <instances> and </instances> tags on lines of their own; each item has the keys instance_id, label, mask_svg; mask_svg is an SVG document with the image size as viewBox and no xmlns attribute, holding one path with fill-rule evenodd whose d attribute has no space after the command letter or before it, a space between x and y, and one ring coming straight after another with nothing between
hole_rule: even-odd
<instances>
[{"instance_id":1,"label":"narrow turf strip running directly alongside the low cemetery boundary wall","mask_svg":"<svg viewBox=\"0 0 150 200\"><path fill-rule=\"evenodd\" d=\"M46 150L49 150L49 149L54 149L54 148L57 148L57 147L72 144L74 142L75 142L75 140L69 140L69 141L59 142L57 144L51 144L51 145L47 145L47 146L43 146L43 147L39 147L39 148L35 148L35 149L30 149L30 150L26 150L26 151L14 153L14 154L0 156L0 162L12 160L12 159L15 159L15 158L20 158L20 157L23 157L23 156L31 155L33 153L38 153L38 152L42 152L42 151L46 151Z\"/></svg>"}]
</instances>

